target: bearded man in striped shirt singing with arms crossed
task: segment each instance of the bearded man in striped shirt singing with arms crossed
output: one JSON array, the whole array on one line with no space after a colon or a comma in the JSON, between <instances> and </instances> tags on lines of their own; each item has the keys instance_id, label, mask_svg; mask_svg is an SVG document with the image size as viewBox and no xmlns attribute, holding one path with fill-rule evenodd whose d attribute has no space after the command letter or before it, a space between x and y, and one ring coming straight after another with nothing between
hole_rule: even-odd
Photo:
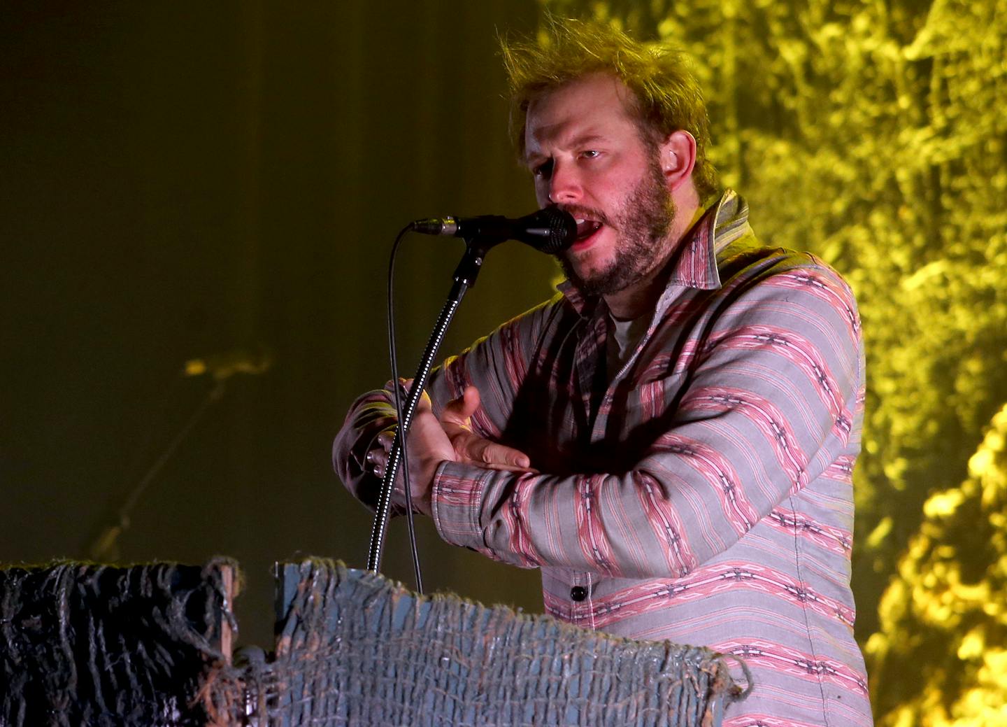
<instances>
[{"instance_id":1,"label":"bearded man in striped shirt singing with arms crossed","mask_svg":"<svg viewBox=\"0 0 1007 727\"><path fill-rule=\"evenodd\" d=\"M725 725L869 725L853 295L718 188L678 53L577 21L550 35L503 55L538 201L577 220L567 280L437 370L410 432L414 507L448 543L539 568L556 618L743 660L754 690ZM333 447L366 502L391 397L357 400Z\"/></svg>"}]
</instances>

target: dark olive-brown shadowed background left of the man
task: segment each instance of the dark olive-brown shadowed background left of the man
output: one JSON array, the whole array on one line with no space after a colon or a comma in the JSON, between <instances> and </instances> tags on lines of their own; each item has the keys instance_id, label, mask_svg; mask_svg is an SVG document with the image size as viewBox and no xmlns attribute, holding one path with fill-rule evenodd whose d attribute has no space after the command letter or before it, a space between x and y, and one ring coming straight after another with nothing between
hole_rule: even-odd
<instances>
[{"instance_id":1,"label":"dark olive-brown shadowed background left of the man","mask_svg":"<svg viewBox=\"0 0 1007 727\"><path fill-rule=\"evenodd\" d=\"M5 3L0 15L0 561L84 558L211 389L184 361L264 346L132 513L121 562L246 574L241 640L271 643L272 564L366 562L332 473L350 402L389 379L396 232L535 208L507 136L497 31L533 0ZM411 374L461 243L399 262ZM553 263L487 259L444 351L551 294ZM407 583L404 522L385 571ZM541 609L538 574L440 543L430 589Z\"/></svg>"}]
</instances>

